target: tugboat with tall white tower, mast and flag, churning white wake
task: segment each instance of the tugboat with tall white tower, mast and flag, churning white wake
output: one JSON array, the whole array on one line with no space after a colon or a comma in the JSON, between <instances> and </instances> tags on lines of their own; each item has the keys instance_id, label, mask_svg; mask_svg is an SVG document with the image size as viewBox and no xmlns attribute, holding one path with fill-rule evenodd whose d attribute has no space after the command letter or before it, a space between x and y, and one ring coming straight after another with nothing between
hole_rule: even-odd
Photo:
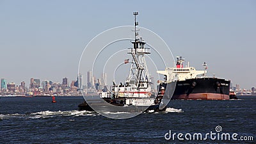
<instances>
[{"instance_id":1,"label":"tugboat with tall white tower, mast and flag, churning white wake","mask_svg":"<svg viewBox=\"0 0 256 144\"><path fill-rule=\"evenodd\" d=\"M127 52L131 54L132 61L125 60L125 64L131 63L129 76L124 84L113 82L111 92L100 92L99 95L101 99L115 106L136 106L136 108L147 108L145 111L164 111L166 107L159 109L163 93L156 97L145 61L145 55L150 54L150 49L145 47L146 42L139 36L138 29L136 29L138 12L133 14L135 17L134 41L131 42L133 47ZM88 106L84 101L83 104L79 104L79 109L92 110Z\"/></svg>"}]
</instances>

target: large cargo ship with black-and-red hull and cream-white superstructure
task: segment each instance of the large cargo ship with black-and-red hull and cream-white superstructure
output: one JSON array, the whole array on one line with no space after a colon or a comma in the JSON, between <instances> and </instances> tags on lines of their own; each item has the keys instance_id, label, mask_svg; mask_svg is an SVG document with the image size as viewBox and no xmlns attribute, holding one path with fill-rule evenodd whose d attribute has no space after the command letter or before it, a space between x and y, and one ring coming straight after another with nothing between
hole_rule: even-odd
<instances>
[{"instance_id":1,"label":"large cargo ship with black-and-red hull and cream-white superstructure","mask_svg":"<svg viewBox=\"0 0 256 144\"><path fill-rule=\"evenodd\" d=\"M175 67L157 70L164 75L164 81L160 86L170 87L176 83L172 99L185 100L228 100L230 99L230 80L207 77L207 64L204 70L196 70L194 67L183 66L184 58L177 56ZM170 88L168 90L171 90ZM168 91L166 90L166 91Z\"/></svg>"}]
</instances>

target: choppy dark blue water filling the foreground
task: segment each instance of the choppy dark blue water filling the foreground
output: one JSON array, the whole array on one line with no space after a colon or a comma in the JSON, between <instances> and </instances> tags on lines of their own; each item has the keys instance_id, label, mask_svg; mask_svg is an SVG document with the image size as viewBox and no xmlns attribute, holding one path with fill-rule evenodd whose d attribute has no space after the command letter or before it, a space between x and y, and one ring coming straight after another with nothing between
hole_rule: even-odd
<instances>
[{"instance_id":1,"label":"choppy dark blue water filling the foreground","mask_svg":"<svg viewBox=\"0 0 256 144\"><path fill-rule=\"evenodd\" d=\"M165 112L114 120L77 111L83 97L1 97L0 143L255 143L256 97L172 100ZM172 132L236 132L253 141L165 140Z\"/></svg>"}]
</instances>

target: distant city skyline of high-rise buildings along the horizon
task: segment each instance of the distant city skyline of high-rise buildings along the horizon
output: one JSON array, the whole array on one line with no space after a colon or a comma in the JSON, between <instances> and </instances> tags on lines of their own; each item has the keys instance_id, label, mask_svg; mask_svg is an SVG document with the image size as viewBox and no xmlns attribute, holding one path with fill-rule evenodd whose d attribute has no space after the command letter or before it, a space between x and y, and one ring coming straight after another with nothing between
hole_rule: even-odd
<instances>
[{"instance_id":1,"label":"distant city skyline of high-rise buildings along the horizon","mask_svg":"<svg viewBox=\"0 0 256 144\"><path fill-rule=\"evenodd\" d=\"M84 81L83 75L79 74L77 80L70 80L68 83L67 77L63 77L62 83L54 82L51 80L44 80L40 83L40 79L30 79L28 86L24 81L20 84L13 82L6 83L6 79L1 79L0 95L81 95L81 92L95 93L95 92L107 92L111 90L112 85L106 85L106 74L102 74L102 77L92 76L92 71L87 72L87 85L81 84ZM151 77L154 81L154 77ZM110 88L110 89L109 89ZM233 85L230 83L230 90L239 93L240 95L248 95L255 92L255 88L240 88L239 84Z\"/></svg>"}]
</instances>

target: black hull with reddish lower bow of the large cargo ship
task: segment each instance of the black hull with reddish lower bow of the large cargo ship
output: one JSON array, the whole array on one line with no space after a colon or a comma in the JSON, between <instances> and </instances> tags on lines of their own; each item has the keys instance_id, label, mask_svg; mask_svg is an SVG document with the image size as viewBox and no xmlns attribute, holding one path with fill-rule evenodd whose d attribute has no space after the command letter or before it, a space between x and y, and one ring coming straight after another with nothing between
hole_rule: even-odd
<instances>
[{"instance_id":1,"label":"black hull with reddish lower bow of the large cargo ship","mask_svg":"<svg viewBox=\"0 0 256 144\"><path fill-rule=\"evenodd\" d=\"M167 84L167 86L170 85ZM170 88L166 90L171 90ZM172 99L228 100L230 81L214 77L202 77L177 81Z\"/></svg>"}]
</instances>

